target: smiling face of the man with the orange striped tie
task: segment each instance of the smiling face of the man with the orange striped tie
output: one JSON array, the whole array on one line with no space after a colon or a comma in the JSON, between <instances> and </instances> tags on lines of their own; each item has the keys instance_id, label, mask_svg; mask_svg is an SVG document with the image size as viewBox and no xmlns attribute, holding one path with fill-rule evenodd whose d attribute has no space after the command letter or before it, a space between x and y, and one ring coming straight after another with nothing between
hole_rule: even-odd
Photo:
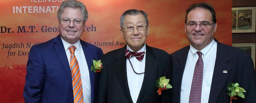
<instances>
[{"instance_id":1,"label":"smiling face of the man with the orange striped tie","mask_svg":"<svg viewBox=\"0 0 256 103\"><path fill-rule=\"evenodd\" d=\"M73 20L84 20L83 14L79 8L66 7L63 13L60 15L60 19L72 20L68 25L59 21L59 33L60 36L70 44L75 44L79 40L80 36L84 32L85 23L82 25L74 25Z\"/></svg>"}]
</instances>

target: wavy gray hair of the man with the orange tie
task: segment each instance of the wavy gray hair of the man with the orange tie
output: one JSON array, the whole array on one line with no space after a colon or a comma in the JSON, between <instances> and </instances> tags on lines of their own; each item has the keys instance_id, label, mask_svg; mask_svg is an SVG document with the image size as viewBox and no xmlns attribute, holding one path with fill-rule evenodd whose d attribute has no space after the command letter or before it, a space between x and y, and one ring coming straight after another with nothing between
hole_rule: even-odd
<instances>
[{"instance_id":1,"label":"wavy gray hair of the man with the orange tie","mask_svg":"<svg viewBox=\"0 0 256 103\"><path fill-rule=\"evenodd\" d=\"M57 18L60 20L60 15L63 13L64 11L64 8L66 7L72 7L72 8L80 8L82 14L83 14L83 17L84 17L84 22L87 21L88 19L88 12L86 10L86 7L84 5L84 3L80 2L80 1L77 1L77 0L67 0L67 1L63 1L61 4L60 4L60 8L58 9L57 11Z\"/></svg>"}]
</instances>

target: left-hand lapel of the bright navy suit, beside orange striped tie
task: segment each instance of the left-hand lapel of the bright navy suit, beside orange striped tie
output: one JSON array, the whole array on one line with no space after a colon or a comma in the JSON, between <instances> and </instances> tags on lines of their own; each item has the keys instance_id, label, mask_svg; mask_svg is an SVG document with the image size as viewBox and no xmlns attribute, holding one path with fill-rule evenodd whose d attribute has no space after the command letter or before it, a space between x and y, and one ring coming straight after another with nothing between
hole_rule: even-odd
<instances>
[{"instance_id":1,"label":"left-hand lapel of the bright navy suit, beside orange striped tie","mask_svg":"<svg viewBox=\"0 0 256 103\"><path fill-rule=\"evenodd\" d=\"M71 76L71 70L69 67L69 62L67 59L67 54L65 52L63 43L61 41L60 35L58 35L57 37L55 37L54 39L54 49L59 57L59 61L61 63L61 66L66 74L67 80L69 82L70 88L73 90L73 86L72 86L72 76Z\"/></svg>"}]
</instances>

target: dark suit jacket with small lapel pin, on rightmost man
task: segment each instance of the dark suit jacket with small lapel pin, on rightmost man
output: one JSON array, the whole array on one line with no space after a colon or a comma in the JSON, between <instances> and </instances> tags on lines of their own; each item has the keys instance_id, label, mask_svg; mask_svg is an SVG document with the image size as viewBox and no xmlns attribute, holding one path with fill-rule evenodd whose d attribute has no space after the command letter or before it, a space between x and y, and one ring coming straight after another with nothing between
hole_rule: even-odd
<instances>
[{"instance_id":1,"label":"dark suit jacket with small lapel pin, on rightmost man","mask_svg":"<svg viewBox=\"0 0 256 103\"><path fill-rule=\"evenodd\" d=\"M230 103L227 95L229 83L239 83L244 88L245 99L239 97L232 103L255 103L256 102L256 77L253 61L250 55L236 47L231 47L217 42L216 61L212 77L209 103ZM172 64L172 97L173 103L180 103L181 81L186 65L189 46L184 47L170 56ZM227 73L223 73L227 70ZM169 75L170 76L170 75Z\"/></svg>"}]
</instances>

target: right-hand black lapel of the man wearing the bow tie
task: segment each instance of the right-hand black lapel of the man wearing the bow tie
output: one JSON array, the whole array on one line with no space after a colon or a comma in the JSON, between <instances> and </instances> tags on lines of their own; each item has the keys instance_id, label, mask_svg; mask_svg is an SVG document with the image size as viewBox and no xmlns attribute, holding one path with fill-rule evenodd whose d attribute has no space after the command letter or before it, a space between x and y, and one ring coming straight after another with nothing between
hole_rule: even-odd
<instances>
[{"instance_id":1,"label":"right-hand black lapel of the man wearing the bow tie","mask_svg":"<svg viewBox=\"0 0 256 103\"><path fill-rule=\"evenodd\" d=\"M144 79L143 79L143 83L141 86L137 103L140 103L140 101L145 95L145 92L148 89L148 86L150 86L154 78L156 68L157 68L157 61L155 61L155 58L156 58L156 55L153 52L153 50L146 45L145 73L144 73Z\"/></svg>"}]
</instances>

